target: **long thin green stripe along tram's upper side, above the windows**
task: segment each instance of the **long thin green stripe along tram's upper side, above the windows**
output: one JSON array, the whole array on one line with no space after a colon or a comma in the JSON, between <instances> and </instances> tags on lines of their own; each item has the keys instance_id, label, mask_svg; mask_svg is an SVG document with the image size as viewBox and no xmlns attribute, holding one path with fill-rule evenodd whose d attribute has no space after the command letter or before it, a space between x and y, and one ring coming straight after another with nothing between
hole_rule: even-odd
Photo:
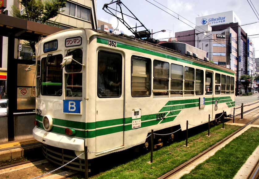
<instances>
[{"instance_id":1,"label":"long thin green stripe along tram's upper side, above the windows","mask_svg":"<svg viewBox=\"0 0 259 179\"><path fill-rule=\"evenodd\" d=\"M97 38L97 43L108 45L108 40ZM188 61L188 60L184 60L184 59L179 59L179 58L176 58L176 57L173 57L173 56L170 56L170 55L166 55L166 54L162 54L162 53L159 53L159 52L154 52L154 51L151 51L151 50L142 49L142 48L135 47L135 46L125 45L125 44L117 42L117 47L123 48L123 49L128 49L128 50L133 50L133 51L137 51L137 52L141 52L141 53L145 53L145 54L149 54L149 55L155 55L155 56L158 56L158 57L163 57L163 58L166 58L166 59L171 59L171 60L175 60L175 61L178 61L178 62L188 63L188 64L195 65L195 66L198 66L198 67L203 67L203 68L207 68L207 69L210 69L210 70L216 70L216 71L219 71L219 72L235 75L234 73L231 73L231 72L227 72L227 71L220 70L220 69L217 69L217 68L202 65L202 64L199 64L199 63L196 63L196 62L192 62L192 61Z\"/></svg>"}]
</instances>

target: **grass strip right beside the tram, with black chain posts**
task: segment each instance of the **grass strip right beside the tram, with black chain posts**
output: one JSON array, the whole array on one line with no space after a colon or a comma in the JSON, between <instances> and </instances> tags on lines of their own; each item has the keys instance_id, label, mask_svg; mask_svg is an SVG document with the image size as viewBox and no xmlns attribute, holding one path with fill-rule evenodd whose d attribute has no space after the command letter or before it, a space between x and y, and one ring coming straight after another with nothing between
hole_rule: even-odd
<instances>
[{"instance_id":1,"label":"grass strip right beside the tram, with black chain posts","mask_svg":"<svg viewBox=\"0 0 259 179\"><path fill-rule=\"evenodd\" d=\"M173 168L176 168L180 164L198 155L202 151L206 150L210 146L214 145L216 142L219 142L220 140L240 128L240 126L227 125L225 129L222 130L221 127L221 125L218 125L211 128L211 137L206 136L207 131L203 131L201 133L193 135L192 137L189 137L189 147L184 147L185 140L183 140L180 142L174 142L169 146L164 146L163 148L154 151L152 164L147 163L147 161L150 161L150 152L137 158L134 158L134 155L132 155L132 160L122 164L118 164L107 171L100 172L98 176L93 176L90 178L158 178L166 172L171 171ZM184 133L182 133L182 135L183 134Z\"/></svg>"}]
</instances>

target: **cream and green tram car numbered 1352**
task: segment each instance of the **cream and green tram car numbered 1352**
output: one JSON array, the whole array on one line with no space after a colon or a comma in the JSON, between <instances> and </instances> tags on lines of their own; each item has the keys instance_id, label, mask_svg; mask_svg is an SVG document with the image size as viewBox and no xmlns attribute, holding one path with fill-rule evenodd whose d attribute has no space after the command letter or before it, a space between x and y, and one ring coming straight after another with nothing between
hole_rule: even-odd
<instances>
[{"instance_id":1,"label":"cream and green tram car numbered 1352","mask_svg":"<svg viewBox=\"0 0 259 179\"><path fill-rule=\"evenodd\" d=\"M41 39L33 136L45 156L64 164L87 146L94 159L135 145L151 129L169 133L185 130L186 120L192 128L209 114L232 114L235 73L188 54L83 28Z\"/></svg>"}]
</instances>

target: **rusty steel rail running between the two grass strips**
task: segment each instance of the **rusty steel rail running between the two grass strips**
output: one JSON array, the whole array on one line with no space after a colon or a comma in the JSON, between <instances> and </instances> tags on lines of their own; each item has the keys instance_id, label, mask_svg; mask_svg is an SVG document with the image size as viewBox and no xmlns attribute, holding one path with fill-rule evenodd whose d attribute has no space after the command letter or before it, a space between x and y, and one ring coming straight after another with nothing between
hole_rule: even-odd
<instances>
[{"instance_id":1,"label":"rusty steel rail running between the two grass strips","mask_svg":"<svg viewBox=\"0 0 259 179\"><path fill-rule=\"evenodd\" d=\"M213 146L211 146L210 148L206 149L205 151L203 151L202 153L196 155L195 157L193 157L192 159L188 160L187 162L179 165L178 167L174 168L172 171L162 175L161 177L159 177L158 179L166 179L171 177L172 175L174 175L175 173L179 172L180 170L182 170L183 168L189 166L190 164L192 164L195 160L201 158L203 155L205 155L206 153L208 153L209 151L211 151L212 149L214 149L215 147L219 146L220 144L222 144L223 142L225 142L227 139L231 138L233 135L235 135L236 133L238 133L239 131L241 131L242 129L244 129L246 126L248 126L249 124L253 123L255 120L257 120L259 117L255 118L254 120L248 122L247 124L245 124L244 126L242 126L240 129L236 130L235 132L231 133L229 136L227 136L226 138L222 139L221 141L219 141L218 143L214 144Z\"/></svg>"}]
</instances>

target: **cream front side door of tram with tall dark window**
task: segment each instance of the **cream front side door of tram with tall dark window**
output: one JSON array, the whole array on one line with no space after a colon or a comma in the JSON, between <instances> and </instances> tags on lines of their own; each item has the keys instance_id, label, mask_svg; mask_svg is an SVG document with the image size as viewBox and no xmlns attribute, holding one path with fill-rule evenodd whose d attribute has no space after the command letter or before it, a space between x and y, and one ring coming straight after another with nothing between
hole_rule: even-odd
<instances>
[{"instance_id":1,"label":"cream front side door of tram with tall dark window","mask_svg":"<svg viewBox=\"0 0 259 179\"><path fill-rule=\"evenodd\" d=\"M124 58L104 50L97 55L96 152L102 152L124 145Z\"/></svg>"}]
</instances>

